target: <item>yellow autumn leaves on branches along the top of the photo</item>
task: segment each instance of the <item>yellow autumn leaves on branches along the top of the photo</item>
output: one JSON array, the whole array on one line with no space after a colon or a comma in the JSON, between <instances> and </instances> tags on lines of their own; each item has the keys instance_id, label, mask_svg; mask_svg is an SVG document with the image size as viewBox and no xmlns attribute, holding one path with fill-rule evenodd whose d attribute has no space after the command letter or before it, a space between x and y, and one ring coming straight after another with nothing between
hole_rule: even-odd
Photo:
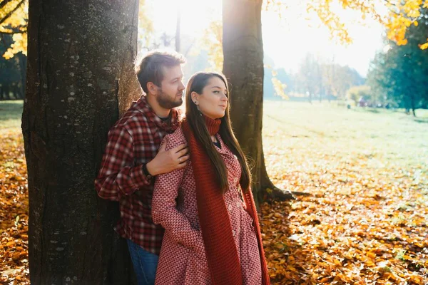
<instances>
[{"instance_id":1,"label":"yellow autumn leaves on branches along the top of the photo","mask_svg":"<svg viewBox=\"0 0 428 285\"><path fill-rule=\"evenodd\" d=\"M273 9L280 11L287 9L287 6L281 0L265 0L265 9ZM145 1L141 1L141 6L144 6ZM428 8L428 0L377 0L377 1L359 1L359 0L310 0L307 3L307 12L315 12L317 17L330 28L333 37L340 39L344 43L349 43L351 40L347 27L340 18L339 14L333 6L340 4L343 9L352 9L360 11L362 19L371 16L387 28L387 36L389 39L397 42L399 45L407 43L406 31L411 25L418 25L418 19L421 17L421 9ZM14 43L4 53L3 57L9 59L15 53L22 52L26 55L27 49L27 33L26 27L28 23L28 0L0 0L0 34L13 34ZM387 13L380 13L382 9L387 9ZM153 30L151 21L140 13L142 22L150 23L146 26L146 30L150 33ZM213 23L210 27L213 28L211 33L214 33L213 41L215 48L210 51L212 54L215 66L220 66L223 61L220 58L218 49L221 48L221 24ZM214 31L214 32L213 32ZM206 38L206 35L205 37ZM148 38L145 38L148 41ZM421 43L420 48L428 48L428 38L426 43Z\"/></svg>"}]
</instances>

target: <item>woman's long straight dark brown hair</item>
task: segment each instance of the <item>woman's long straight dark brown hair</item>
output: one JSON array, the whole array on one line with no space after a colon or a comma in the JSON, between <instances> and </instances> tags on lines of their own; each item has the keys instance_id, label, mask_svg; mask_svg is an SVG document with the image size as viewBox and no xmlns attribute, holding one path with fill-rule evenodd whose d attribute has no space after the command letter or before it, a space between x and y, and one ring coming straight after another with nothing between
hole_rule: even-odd
<instances>
[{"instance_id":1,"label":"woman's long straight dark brown hair","mask_svg":"<svg viewBox=\"0 0 428 285\"><path fill-rule=\"evenodd\" d=\"M218 77L225 83L227 95L229 98L229 88L228 81L225 76L221 73L216 72L198 72L195 73L192 78L190 78L186 91L185 91L185 120L188 120L191 130L195 134L196 140L201 142L203 149L210 157L211 163L215 168L215 173L218 178L219 186L222 192L226 192L228 190L228 170L226 169L225 162L215 150L215 146L213 145L213 141L211 140L210 133L208 133L208 128L205 125L205 120L203 116L200 115L200 111L198 107L193 103L192 100L192 92L196 92L198 94L203 93L203 88L208 85L208 81L211 78ZM236 157L238 157L238 161L241 167L241 177L240 177L240 185L243 187L243 191L247 192L251 183L251 175L250 169L248 168L247 160L245 159L245 155L243 150L241 149L238 140L235 138L235 134L232 130L232 124L230 123L230 103L228 100L228 105L225 110L225 115L223 118L220 118L221 125L220 136L225 143L229 147L229 149L233 152Z\"/></svg>"}]
</instances>

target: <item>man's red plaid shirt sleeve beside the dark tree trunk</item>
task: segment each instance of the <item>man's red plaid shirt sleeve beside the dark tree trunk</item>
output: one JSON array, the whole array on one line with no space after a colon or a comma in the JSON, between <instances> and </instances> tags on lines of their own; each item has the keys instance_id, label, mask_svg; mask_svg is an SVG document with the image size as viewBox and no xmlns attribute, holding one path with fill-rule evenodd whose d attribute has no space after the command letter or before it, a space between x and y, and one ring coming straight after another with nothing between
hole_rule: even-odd
<instances>
[{"instance_id":1,"label":"man's red plaid shirt sleeve beside the dark tree trunk","mask_svg":"<svg viewBox=\"0 0 428 285\"><path fill-rule=\"evenodd\" d=\"M95 180L98 196L118 201L123 195L150 185L141 165L134 165L133 138L123 126L115 126L108 132L106 152Z\"/></svg>"}]
</instances>

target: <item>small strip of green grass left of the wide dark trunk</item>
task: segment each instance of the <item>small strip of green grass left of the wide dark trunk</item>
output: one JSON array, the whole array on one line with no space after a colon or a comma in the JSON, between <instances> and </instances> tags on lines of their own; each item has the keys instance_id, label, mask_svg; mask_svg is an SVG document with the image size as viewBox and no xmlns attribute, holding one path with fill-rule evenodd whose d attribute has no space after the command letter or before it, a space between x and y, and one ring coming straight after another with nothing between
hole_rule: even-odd
<instances>
[{"instance_id":1,"label":"small strip of green grass left of the wide dark trunk","mask_svg":"<svg viewBox=\"0 0 428 285\"><path fill-rule=\"evenodd\" d=\"M0 130L21 128L23 100L0 101Z\"/></svg>"}]
</instances>

